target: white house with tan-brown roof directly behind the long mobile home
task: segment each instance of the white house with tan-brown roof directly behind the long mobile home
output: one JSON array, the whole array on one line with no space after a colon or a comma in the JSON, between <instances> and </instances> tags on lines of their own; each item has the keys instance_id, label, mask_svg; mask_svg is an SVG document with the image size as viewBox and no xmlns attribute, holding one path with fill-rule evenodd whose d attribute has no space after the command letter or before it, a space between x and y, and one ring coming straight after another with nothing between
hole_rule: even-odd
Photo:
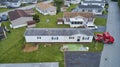
<instances>
[{"instance_id":1,"label":"white house with tan-brown roof directly behind the long mobile home","mask_svg":"<svg viewBox=\"0 0 120 67\"><path fill-rule=\"evenodd\" d=\"M69 24L70 27L86 27L93 25L95 15L88 12L64 12L64 24Z\"/></svg>"}]
</instances>

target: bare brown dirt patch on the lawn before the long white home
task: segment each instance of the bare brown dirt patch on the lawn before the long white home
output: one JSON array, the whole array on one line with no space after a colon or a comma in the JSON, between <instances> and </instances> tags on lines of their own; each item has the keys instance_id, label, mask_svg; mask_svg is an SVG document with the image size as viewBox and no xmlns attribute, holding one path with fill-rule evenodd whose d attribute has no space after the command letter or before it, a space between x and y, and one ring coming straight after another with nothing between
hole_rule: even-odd
<instances>
[{"instance_id":1,"label":"bare brown dirt patch on the lawn before the long white home","mask_svg":"<svg viewBox=\"0 0 120 67\"><path fill-rule=\"evenodd\" d=\"M23 47L23 52L33 52L38 50L38 45L37 44L25 44Z\"/></svg>"}]
</instances>

